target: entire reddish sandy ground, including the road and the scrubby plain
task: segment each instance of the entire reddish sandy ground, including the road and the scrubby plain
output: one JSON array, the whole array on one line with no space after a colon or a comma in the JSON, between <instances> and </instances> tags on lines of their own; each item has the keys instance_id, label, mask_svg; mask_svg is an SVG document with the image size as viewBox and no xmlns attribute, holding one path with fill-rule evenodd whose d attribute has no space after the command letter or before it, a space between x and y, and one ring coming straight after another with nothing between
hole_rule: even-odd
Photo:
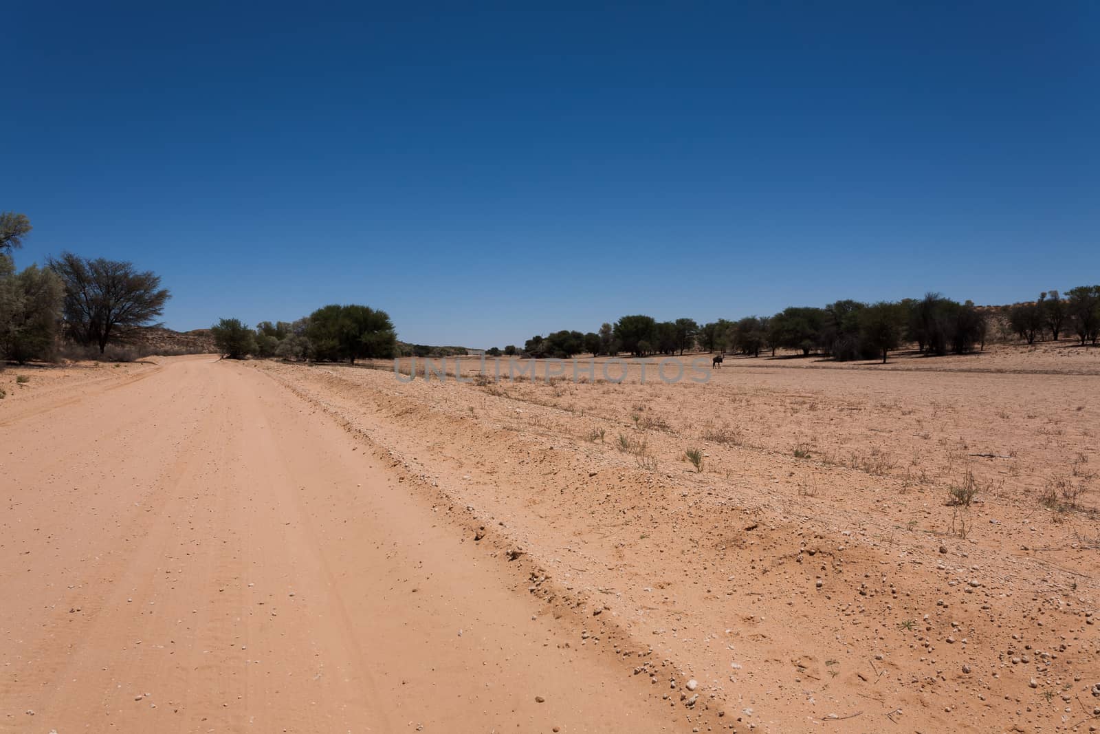
<instances>
[{"instance_id":1,"label":"entire reddish sandy ground, including the road and the scrubby plain","mask_svg":"<svg viewBox=\"0 0 1100 734\"><path fill-rule=\"evenodd\" d=\"M0 372L0 731L1100 726L1100 350L605 361Z\"/></svg>"}]
</instances>

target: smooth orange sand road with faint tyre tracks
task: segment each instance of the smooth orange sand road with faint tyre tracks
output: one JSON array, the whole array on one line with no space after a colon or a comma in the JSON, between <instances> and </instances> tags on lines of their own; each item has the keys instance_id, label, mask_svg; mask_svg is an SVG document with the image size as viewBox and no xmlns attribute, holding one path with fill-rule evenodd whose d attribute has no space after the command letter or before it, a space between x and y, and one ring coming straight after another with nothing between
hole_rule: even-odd
<instances>
[{"instance_id":1,"label":"smooth orange sand road with faint tyre tracks","mask_svg":"<svg viewBox=\"0 0 1100 734\"><path fill-rule=\"evenodd\" d=\"M383 454L160 362L0 406L0 731L675 727Z\"/></svg>"}]
</instances>

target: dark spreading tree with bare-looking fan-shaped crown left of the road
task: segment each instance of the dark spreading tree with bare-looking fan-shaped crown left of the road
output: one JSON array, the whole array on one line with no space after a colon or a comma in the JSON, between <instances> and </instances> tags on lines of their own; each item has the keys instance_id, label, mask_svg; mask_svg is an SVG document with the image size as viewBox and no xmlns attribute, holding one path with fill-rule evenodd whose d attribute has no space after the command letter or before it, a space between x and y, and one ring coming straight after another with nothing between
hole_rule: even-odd
<instances>
[{"instance_id":1,"label":"dark spreading tree with bare-looking fan-shaped crown left of the road","mask_svg":"<svg viewBox=\"0 0 1100 734\"><path fill-rule=\"evenodd\" d=\"M164 313L172 294L161 287L152 271L134 270L133 263L87 260L72 252L48 261L65 284L65 320L69 333L103 353L119 328L146 326Z\"/></svg>"}]
</instances>

